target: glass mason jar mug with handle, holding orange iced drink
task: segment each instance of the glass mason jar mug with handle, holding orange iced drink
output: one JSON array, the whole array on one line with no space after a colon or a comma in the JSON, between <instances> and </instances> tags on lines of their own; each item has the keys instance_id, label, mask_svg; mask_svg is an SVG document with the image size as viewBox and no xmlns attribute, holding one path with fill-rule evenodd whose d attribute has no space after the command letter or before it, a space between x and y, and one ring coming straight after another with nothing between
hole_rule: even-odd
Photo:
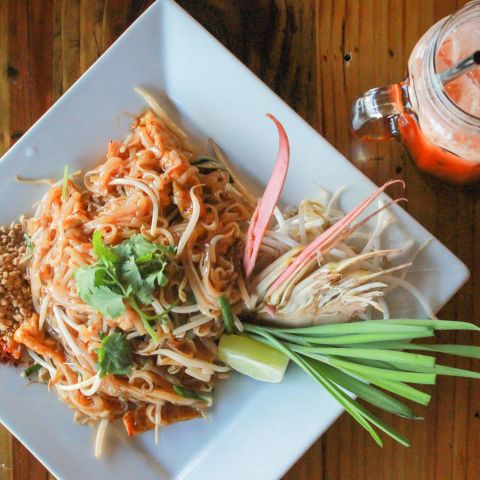
<instances>
[{"instance_id":1,"label":"glass mason jar mug with handle, holding orange iced drink","mask_svg":"<svg viewBox=\"0 0 480 480\"><path fill-rule=\"evenodd\" d=\"M365 141L399 139L417 167L441 180L480 180L480 67L443 86L438 74L480 49L480 0L428 30L406 79L365 92L353 105Z\"/></svg>"}]
</instances>

